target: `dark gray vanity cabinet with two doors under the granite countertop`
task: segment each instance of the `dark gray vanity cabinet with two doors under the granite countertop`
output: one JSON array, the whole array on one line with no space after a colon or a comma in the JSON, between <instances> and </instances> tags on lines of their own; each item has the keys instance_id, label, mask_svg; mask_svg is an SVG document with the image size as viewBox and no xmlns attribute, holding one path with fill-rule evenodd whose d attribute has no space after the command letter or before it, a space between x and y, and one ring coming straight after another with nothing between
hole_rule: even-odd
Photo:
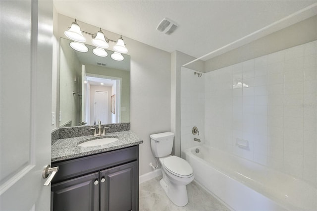
<instances>
[{"instance_id":1,"label":"dark gray vanity cabinet with two doors under the granite countertop","mask_svg":"<svg viewBox=\"0 0 317 211\"><path fill-rule=\"evenodd\" d=\"M139 146L53 162L52 211L137 211Z\"/></svg>"}]
</instances>

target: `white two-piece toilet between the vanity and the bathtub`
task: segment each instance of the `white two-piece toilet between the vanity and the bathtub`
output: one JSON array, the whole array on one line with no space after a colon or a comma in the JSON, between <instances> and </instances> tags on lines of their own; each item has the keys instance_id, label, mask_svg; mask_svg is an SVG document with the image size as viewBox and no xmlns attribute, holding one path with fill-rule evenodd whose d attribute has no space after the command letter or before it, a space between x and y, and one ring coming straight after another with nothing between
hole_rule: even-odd
<instances>
[{"instance_id":1,"label":"white two-piece toilet between the vanity and the bathtub","mask_svg":"<svg viewBox=\"0 0 317 211\"><path fill-rule=\"evenodd\" d=\"M185 159L171 155L174 133L152 134L150 138L152 152L161 164L159 183L175 205L184 207L188 203L186 185L194 180L193 168Z\"/></svg>"}]
</instances>

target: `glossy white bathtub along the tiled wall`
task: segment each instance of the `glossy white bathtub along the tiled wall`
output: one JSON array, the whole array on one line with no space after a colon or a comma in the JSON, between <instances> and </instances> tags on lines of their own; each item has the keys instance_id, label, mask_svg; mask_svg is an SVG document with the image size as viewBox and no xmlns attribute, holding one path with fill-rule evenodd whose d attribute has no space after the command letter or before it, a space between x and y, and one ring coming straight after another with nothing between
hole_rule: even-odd
<instances>
[{"instance_id":1,"label":"glossy white bathtub along the tiled wall","mask_svg":"<svg viewBox=\"0 0 317 211\"><path fill-rule=\"evenodd\" d=\"M206 145L187 149L182 157L195 180L232 210L317 211L317 189L301 179Z\"/></svg>"}]
</instances>

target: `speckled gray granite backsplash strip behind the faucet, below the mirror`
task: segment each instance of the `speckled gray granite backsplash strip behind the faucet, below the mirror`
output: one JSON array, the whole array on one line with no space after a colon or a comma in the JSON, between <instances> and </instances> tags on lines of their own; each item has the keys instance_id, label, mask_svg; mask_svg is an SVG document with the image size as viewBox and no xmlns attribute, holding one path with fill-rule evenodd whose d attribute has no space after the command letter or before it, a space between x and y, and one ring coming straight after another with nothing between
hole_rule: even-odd
<instances>
[{"instance_id":1,"label":"speckled gray granite backsplash strip behind the faucet, below the mirror","mask_svg":"<svg viewBox=\"0 0 317 211\"><path fill-rule=\"evenodd\" d=\"M130 122L102 125L102 128L104 127L110 127L106 129L107 133L127 131L130 130ZM93 135L94 132L89 130L90 128L95 128L98 132L98 125L58 128L52 131L52 144L58 139Z\"/></svg>"}]
</instances>

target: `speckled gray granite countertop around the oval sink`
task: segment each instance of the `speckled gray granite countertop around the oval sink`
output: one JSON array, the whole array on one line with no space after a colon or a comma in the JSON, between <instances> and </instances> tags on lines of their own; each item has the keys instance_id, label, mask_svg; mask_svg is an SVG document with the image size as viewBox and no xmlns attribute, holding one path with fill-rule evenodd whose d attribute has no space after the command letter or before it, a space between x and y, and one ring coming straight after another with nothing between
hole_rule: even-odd
<instances>
[{"instance_id":1,"label":"speckled gray granite countertop around the oval sink","mask_svg":"<svg viewBox=\"0 0 317 211\"><path fill-rule=\"evenodd\" d=\"M118 137L118 140L109 144L95 146L95 147L78 147L85 141L96 138ZM79 158L89 156L97 153L104 153L112 150L117 150L125 147L131 147L142 144L143 140L138 138L132 131L122 131L107 133L106 136L80 136L74 138L58 139L52 145L52 162L61 161L71 158Z\"/></svg>"}]
</instances>

